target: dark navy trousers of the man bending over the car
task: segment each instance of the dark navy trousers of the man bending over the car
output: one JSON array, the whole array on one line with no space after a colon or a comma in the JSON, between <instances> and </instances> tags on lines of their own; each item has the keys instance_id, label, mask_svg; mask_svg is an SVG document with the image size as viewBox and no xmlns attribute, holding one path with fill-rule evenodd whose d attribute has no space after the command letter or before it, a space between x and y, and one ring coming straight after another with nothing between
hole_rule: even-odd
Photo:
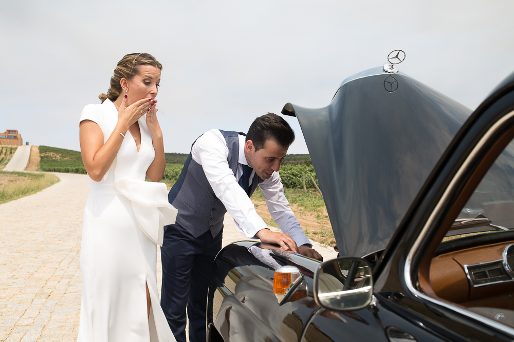
<instances>
[{"instance_id":1,"label":"dark navy trousers of the man bending over the car","mask_svg":"<svg viewBox=\"0 0 514 342\"><path fill-rule=\"evenodd\" d=\"M206 341L207 291L214 257L222 249L223 229L194 237L169 225L161 247L161 307L177 342L186 342L186 306L190 342Z\"/></svg>"}]
</instances>

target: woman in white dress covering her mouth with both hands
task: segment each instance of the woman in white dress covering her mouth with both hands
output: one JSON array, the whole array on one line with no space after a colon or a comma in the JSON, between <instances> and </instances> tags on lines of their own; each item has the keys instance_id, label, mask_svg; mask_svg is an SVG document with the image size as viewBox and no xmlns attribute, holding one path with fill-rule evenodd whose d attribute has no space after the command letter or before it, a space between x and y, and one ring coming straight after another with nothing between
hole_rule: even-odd
<instances>
[{"instance_id":1,"label":"woman in white dress covering her mouth with both hands","mask_svg":"<svg viewBox=\"0 0 514 342\"><path fill-rule=\"evenodd\" d=\"M102 104L87 105L80 117L90 180L78 341L175 341L156 280L156 244L177 214L166 185L154 183L166 167L155 108L161 69L150 54L125 55Z\"/></svg>"}]
</instances>

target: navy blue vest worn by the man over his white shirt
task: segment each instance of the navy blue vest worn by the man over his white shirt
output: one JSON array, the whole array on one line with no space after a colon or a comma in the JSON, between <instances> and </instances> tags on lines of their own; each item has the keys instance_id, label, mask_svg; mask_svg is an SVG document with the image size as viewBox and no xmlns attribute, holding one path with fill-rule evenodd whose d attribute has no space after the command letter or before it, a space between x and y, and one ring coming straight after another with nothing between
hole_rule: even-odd
<instances>
[{"instance_id":1,"label":"navy blue vest worn by the man over his white shirt","mask_svg":"<svg viewBox=\"0 0 514 342\"><path fill-rule=\"evenodd\" d=\"M238 135L245 134L219 131L223 134L227 143L228 165L236 175L239 160ZM253 175L250 196L262 182L261 177L257 174ZM223 229L223 218L227 209L214 194L205 176L204 169L193 160L191 153L189 153L186 163L184 163L177 182L168 194L168 200L178 209L176 224L186 229L194 237L198 237L208 230L214 237Z\"/></svg>"}]
</instances>

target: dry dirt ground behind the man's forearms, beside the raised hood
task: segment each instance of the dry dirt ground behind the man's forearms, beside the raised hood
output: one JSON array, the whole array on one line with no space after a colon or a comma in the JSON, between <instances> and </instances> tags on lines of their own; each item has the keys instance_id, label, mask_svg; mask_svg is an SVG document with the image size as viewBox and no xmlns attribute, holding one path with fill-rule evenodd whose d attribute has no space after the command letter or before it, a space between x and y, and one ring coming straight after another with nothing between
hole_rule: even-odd
<instances>
[{"instance_id":1,"label":"dry dirt ground behind the man's forearms, beside the raised hood","mask_svg":"<svg viewBox=\"0 0 514 342\"><path fill-rule=\"evenodd\" d=\"M268 225L277 226L274 224L273 219L268 212L268 207L266 206L265 201L252 199L252 202L255 205L255 211ZM291 205L291 209L293 213L295 213L295 216L298 218L298 222L309 239L330 247L334 247L336 245L336 239L333 237L332 226L325 208L323 208L321 212L305 211L297 204L293 204Z\"/></svg>"}]
</instances>

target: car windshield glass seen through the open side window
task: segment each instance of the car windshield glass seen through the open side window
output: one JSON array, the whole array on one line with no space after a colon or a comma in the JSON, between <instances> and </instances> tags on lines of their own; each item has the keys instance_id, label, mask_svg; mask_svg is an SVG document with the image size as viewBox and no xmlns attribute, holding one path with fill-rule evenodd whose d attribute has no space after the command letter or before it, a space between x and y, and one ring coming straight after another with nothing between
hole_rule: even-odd
<instances>
[{"instance_id":1,"label":"car windshield glass seen through the open side window","mask_svg":"<svg viewBox=\"0 0 514 342\"><path fill-rule=\"evenodd\" d=\"M514 229L514 140L491 166L446 236L456 238L487 231L512 229Z\"/></svg>"}]
</instances>

